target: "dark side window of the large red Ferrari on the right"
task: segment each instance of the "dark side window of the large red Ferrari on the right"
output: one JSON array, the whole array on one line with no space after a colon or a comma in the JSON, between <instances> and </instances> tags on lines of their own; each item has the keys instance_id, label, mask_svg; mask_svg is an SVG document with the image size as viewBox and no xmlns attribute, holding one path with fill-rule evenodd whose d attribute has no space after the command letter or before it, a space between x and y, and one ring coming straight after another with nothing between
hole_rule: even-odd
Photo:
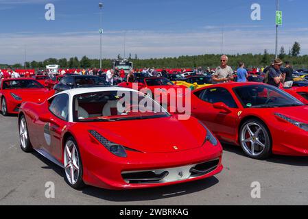
<instances>
[{"instance_id":1,"label":"dark side window of the large red Ferrari on the right","mask_svg":"<svg viewBox=\"0 0 308 219\"><path fill-rule=\"evenodd\" d=\"M208 103L224 103L230 108L237 108L232 95L226 88L208 88L200 95L202 101Z\"/></svg>"}]
</instances>

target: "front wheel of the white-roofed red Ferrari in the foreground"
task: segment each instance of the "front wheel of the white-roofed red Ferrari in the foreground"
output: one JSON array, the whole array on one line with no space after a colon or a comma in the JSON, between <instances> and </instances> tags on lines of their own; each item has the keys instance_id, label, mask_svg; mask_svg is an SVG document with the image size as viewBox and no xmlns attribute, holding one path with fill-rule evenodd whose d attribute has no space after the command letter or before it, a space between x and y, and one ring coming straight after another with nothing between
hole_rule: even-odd
<instances>
[{"instance_id":1,"label":"front wheel of the white-roofed red Ferrari in the foreground","mask_svg":"<svg viewBox=\"0 0 308 219\"><path fill-rule=\"evenodd\" d=\"M75 190L84 188L84 182L82 181L83 168L80 151L78 149L77 142L73 137L67 138L67 141L64 144L63 160L65 181Z\"/></svg>"}]
</instances>

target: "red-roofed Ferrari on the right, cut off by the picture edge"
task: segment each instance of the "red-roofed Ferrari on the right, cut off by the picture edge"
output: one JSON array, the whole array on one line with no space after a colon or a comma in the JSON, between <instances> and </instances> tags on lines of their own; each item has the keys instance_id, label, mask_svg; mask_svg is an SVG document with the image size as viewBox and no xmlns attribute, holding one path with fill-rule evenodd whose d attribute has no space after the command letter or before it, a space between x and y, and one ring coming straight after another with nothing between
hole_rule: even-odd
<instances>
[{"instance_id":1,"label":"red-roofed Ferrari on the right, cut off by the picture edge","mask_svg":"<svg viewBox=\"0 0 308 219\"><path fill-rule=\"evenodd\" d=\"M191 114L249 157L308 155L308 106L265 83L220 83L191 94Z\"/></svg>"}]
</instances>

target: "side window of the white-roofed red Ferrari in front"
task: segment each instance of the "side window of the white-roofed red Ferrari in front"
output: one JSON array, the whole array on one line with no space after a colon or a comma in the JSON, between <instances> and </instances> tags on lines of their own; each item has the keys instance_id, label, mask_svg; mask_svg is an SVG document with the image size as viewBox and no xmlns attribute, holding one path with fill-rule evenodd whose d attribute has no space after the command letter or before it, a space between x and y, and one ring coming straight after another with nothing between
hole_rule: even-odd
<instances>
[{"instance_id":1,"label":"side window of the white-roofed red Ferrari in front","mask_svg":"<svg viewBox=\"0 0 308 219\"><path fill-rule=\"evenodd\" d=\"M62 120L69 120L69 95L59 94L51 101L49 110Z\"/></svg>"}]
</instances>

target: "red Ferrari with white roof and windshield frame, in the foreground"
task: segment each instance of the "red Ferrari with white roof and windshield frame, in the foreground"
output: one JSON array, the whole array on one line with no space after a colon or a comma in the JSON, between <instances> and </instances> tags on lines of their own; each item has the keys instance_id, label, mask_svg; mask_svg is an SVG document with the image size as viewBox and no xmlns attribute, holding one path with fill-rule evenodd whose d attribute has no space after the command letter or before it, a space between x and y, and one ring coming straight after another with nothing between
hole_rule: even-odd
<instances>
[{"instance_id":1,"label":"red Ferrari with white roof and windshield frame, in the foreground","mask_svg":"<svg viewBox=\"0 0 308 219\"><path fill-rule=\"evenodd\" d=\"M76 189L171 185L223 168L222 146L205 125L179 120L127 88L78 88L24 103L19 133L23 151L34 149L64 168Z\"/></svg>"}]
</instances>

